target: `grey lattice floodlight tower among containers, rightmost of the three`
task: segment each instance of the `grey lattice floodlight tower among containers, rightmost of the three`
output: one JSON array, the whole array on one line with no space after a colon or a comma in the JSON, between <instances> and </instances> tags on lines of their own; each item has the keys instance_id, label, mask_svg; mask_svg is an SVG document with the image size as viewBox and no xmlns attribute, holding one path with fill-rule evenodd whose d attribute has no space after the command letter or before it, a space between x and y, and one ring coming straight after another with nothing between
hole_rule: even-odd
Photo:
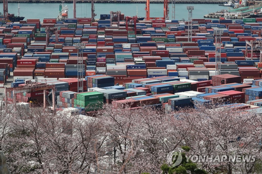
<instances>
[{"instance_id":1,"label":"grey lattice floodlight tower among containers, rightmost of the three","mask_svg":"<svg viewBox=\"0 0 262 174\"><path fill-rule=\"evenodd\" d=\"M223 34L223 30L217 29L214 30L214 35L216 39L216 75L220 75L221 70L221 35Z\"/></svg>"}]
</instances>

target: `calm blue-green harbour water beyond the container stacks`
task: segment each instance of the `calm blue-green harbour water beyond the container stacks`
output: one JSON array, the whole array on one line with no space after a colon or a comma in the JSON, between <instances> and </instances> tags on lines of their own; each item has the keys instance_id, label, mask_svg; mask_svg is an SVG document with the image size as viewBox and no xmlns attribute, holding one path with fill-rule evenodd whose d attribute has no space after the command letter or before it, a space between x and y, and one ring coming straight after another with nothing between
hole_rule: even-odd
<instances>
[{"instance_id":1,"label":"calm blue-green harbour water beyond the container stacks","mask_svg":"<svg viewBox=\"0 0 262 174\"><path fill-rule=\"evenodd\" d=\"M68 18L73 18L73 3L65 5L68 6ZM121 11L125 16L145 16L145 4L112 4L112 3L95 3L95 19L100 18L100 14L110 14L110 11ZM163 4L150 4L150 17L163 17ZM203 19L204 15L216 12L228 7L219 6L218 4L176 4L175 17L176 20L188 19L187 6L194 6L193 19ZM3 3L0 3L0 9L3 13ZM172 18L172 5L169 5L170 19ZM20 16L25 16L25 19L40 19L43 18L57 18L59 10L59 3L20 3ZM76 9L77 17L91 17L91 3L77 3ZM18 3L8 3L8 12L17 15Z\"/></svg>"}]
</instances>

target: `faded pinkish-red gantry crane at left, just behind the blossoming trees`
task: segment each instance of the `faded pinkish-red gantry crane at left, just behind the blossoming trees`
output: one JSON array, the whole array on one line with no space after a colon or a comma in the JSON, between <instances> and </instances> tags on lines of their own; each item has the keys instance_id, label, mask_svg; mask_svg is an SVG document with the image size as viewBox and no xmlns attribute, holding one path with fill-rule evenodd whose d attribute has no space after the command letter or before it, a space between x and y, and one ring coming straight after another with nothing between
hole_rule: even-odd
<instances>
[{"instance_id":1,"label":"faded pinkish-red gantry crane at left, just behind the blossoming trees","mask_svg":"<svg viewBox=\"0 0 262 174\"><path fill-rule=\"evenodd\" d=\"M43 107L46 108L46 94L47 94L47 91L46 90L52 90L52 105L53 105L53 110L55 110L55 107L56 107L56 103L55 103L55 91L56 91L56 88L55 88L55 85L49 85L49 84L46 84L46 83L43 83L43 84L38 84L37 82L31 82L30 83L26 83L24 86L18 86L18 87L13 87L13 88L5 88L4 91L5 91L5 98L6 98L6 101L12 101L12 102L16 102L16 94L18 93L22 93L22 92L34 92L34 91L43 91L44 92L44 100L43 100ZM9 93L12 92L13 94L13 98L10 98L8 96ZM11 100L8 100L8 98L10 98Z\"/></svg>"}]
</instances>

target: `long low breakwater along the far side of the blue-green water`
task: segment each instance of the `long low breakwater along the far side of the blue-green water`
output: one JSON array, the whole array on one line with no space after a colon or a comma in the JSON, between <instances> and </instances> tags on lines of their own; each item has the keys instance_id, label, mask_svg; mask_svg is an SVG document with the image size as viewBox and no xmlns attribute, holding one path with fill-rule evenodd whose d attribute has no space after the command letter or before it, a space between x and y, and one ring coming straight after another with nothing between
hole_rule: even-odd
<instances>
[{"instance_id":1,"label":"long low breakwater along the far side of the blue-green water","mask_svg":"<svg viewBox=\"0 0 262 174\"><path fill-rule=\"evenodd\" d=\"M163 3L163 0L150 0L150 3ZM223 4L227 0L181 0L175 1L176 4ZM3 3L3 0L0 0ZM62 3L61 0L8 0L8 3ZM66 3L73 3L73 0L67 0ZM77 0L77 3L91 3L90 0ZM146 0L97 0L95 3L146 3Z\"/></svg>"}]
</instances>

